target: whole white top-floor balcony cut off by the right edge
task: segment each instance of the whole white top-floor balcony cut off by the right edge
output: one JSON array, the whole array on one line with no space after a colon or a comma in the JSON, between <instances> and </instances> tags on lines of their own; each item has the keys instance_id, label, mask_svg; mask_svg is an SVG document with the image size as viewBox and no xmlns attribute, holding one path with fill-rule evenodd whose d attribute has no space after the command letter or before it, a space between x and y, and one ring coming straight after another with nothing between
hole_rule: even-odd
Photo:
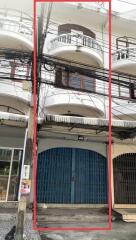
<instances>
[{"instance_id":1,"label":"whole white top-floor balcony cut off by the right edge","mask_svg":"<svg viewBox=\"0 0 136 240\"><path fill-rule=\"evenodd\" d=\"M136 74L136 47L119 49L112 54L112 69Z\"/></svg>"}]
</instances>

